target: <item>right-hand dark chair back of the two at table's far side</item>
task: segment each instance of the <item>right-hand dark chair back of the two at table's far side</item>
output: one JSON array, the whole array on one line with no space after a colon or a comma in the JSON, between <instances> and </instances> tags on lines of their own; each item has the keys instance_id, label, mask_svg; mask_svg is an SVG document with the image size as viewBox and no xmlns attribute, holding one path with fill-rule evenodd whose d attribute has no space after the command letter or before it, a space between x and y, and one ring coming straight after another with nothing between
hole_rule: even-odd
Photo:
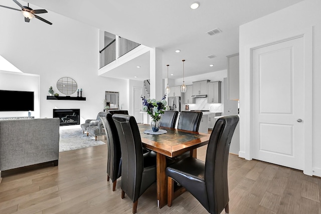
<instances>
[{"instance_id":1,"label":"right-hand dark chair back of the two at table's far side","mask_svg":"<svg viewBox=\"0 0 321 214\"><path fill-rule=\"evenodd\" d=\"M203 112L181 112L178 129L198 132L202 120Z\"/></svg>"}]
</instances>

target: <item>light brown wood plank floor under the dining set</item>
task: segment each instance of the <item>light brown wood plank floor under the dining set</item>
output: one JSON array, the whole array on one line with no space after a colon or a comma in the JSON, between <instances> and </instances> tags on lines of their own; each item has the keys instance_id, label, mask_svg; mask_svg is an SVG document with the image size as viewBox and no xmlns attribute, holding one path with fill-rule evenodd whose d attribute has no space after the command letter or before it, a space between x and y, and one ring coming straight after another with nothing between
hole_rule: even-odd
<instances>
[{"instance_id":1,"label":"light brown wood plank floor under the dining set","mask_svg":"<svg viewBox=\"0 0 321 214\"><path fill-rule=\"evenodd\" d=\"M106 141L100 137L99 140ZM107 146L62 152L59 166L42 164L3 171L0 213L131 213L106 181ZM206 147L198 149L205 160ZM319 213L321 179L257 160L229 158L230 213ZM208 213L189 193L173 206L156 207L156 185L139 198L137 213ZM222 213L225 213L224 211Z\"/></svg>"}]
</instances>

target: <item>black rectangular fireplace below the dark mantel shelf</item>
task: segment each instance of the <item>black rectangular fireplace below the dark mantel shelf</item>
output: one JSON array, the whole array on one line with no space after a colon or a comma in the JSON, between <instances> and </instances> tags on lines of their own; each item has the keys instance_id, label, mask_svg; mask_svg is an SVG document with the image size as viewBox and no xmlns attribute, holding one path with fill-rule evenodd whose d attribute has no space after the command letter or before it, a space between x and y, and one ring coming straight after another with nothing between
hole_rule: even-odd
<instances>
[{"instance_id":1,"label":"black rectangular fireplace below the dark mantel shelf","mask_svg":"<svg viewBox=\"0 0 321 214\"><path fill-rule=\"evenodd\" d=\"M80 124L80 109L54 109L53 118L59 118L60 126Z\"/></svg>"}]
</instances>

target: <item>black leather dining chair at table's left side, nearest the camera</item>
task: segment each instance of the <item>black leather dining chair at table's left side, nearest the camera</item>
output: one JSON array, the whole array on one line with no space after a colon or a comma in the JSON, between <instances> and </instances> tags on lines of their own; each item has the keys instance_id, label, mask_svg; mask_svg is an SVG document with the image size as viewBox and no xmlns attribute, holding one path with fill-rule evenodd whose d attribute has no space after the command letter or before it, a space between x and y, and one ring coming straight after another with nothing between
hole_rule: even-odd
<instances>
[{"instance_id":1,"label":"black leather dining chair at table's left side, nearest the camera","mask_svg":"<svg viewBox=\"0 0 321 214\"><path fill-rule=\"evenodd\" d=\"M121 147L121 198L133 201L132 213L136 213L138 198L156 181L156 153L143 153L140 133L133 116L112 116Z\"/></svg>"}]
</instances>

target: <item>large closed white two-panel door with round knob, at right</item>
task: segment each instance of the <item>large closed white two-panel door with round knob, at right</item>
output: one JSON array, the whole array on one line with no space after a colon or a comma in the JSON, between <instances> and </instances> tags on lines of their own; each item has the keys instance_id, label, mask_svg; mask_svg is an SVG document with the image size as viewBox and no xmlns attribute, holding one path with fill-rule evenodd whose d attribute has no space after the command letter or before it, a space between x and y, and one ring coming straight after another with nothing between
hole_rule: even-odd
<instances>
[{"instance_id":1,"label":"large closed white two-panel door with round knob, at right","mask_svg":"<svg viewBox=\"0 0 321 214\"><path fill-rule=\"evenodd\" d=\"M303 37L252 50L252 157L304 167Z\"/></svg>"}]
</instances>

